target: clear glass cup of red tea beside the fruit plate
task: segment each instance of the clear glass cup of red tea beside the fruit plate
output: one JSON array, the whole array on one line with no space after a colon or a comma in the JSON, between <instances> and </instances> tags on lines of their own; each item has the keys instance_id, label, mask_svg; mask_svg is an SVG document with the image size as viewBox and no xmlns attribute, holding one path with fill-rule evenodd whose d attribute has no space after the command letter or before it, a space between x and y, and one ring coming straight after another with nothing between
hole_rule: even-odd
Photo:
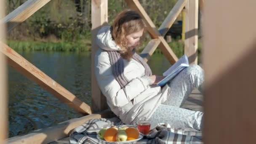
<instances>
[{"instance_id":1,"label":"clear glass cup of red tea beside the fruit plate","mask_svg":"<svg viewBox=\"0 0 256 144\"><path fill-rule=\"evenodd\" d=\"M133 125L138 129L138 131L144 135L148 135L150 131L150 121L149 120L136 120Z\"/></svg>"}]
</instances>

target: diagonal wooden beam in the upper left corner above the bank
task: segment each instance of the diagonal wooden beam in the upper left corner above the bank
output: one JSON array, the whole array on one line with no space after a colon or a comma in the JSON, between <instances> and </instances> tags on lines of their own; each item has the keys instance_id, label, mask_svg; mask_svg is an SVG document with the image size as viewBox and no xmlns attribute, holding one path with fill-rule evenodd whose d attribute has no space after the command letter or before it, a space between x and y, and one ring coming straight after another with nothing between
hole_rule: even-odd
<instances>
[{"instance_id":1,"label":"diagonal wooden beam in the upper left corner above the bank","mask_svg":"<svg viewBox=\"0 0 256 144\"><path fill-rule=\"evenodd\" d=\"M21 6L5 16L0 23L7 24L7 32L10 32L14 27L21 24L49 1L50 0L27 0Z\"/></svg>"}]
</instances>

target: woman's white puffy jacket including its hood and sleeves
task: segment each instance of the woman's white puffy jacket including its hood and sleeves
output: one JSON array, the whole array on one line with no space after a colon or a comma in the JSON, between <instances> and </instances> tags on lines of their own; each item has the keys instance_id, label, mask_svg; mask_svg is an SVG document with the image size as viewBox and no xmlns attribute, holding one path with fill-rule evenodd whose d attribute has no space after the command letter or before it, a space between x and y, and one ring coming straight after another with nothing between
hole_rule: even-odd
<instances>
[{"instance_id":1,"label":"woman's white puffy jacket including its hood and sleeves","mask_svg":"<svg viewBox=\"0 0 256 144\"><path fill-rule=\"evenodd\" d=\"M124 59L124 75L129 83L121 88L112 73L106 52L120 51L120 47L112 40L109 27L99 30L97 44L100 48L95 55L95 75L112 112L125 124L132 124L133 120L149 119L157 106L166 100L168 86L161 89L159 86L150 85L149 77L144 76L145 69L142 64L134 59Z\"/></svg>"}]
</instances>

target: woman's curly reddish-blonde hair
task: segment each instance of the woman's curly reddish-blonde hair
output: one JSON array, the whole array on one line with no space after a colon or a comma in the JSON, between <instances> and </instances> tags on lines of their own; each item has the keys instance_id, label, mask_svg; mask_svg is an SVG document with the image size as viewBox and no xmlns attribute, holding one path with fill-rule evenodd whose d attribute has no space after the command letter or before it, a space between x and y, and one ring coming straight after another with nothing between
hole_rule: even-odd
<instances>
[{"instance_id":1,"label":"woman's curly reddish-blonde hair","mask_svg":"<svg viewBox=\"0 0 256 144\"><path fill-rule=\"evenodd\" d=\"M128 48L128 41L125 38L134 32L144 29L145 24L142 17L136 11L124 10L120 12L111 26L111 35L115 43L120 46L120 54L123 59L131 59L133 52Z\"/></svg>"}]
</instances>

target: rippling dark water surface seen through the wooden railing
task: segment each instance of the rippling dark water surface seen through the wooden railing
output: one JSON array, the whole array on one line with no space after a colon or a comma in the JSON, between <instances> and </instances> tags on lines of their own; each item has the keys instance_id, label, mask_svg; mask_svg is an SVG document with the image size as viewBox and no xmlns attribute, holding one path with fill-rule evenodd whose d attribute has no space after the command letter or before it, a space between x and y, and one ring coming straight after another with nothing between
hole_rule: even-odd
<instances>
[{"instance_id":1,"label":"rippling dark water surface seen through the wooden railing","mask_svg":"<svg viewBox=\"0 0 256 144\"><path fill-rule=\"evenodd\" d=\"M91 105L91 53L20 52L46 75ZM161 75L170 64L163 55L149 60L153 74ZM8 67L9 137L49 127L79 113Z\"/></svg>"}]
</instances>

